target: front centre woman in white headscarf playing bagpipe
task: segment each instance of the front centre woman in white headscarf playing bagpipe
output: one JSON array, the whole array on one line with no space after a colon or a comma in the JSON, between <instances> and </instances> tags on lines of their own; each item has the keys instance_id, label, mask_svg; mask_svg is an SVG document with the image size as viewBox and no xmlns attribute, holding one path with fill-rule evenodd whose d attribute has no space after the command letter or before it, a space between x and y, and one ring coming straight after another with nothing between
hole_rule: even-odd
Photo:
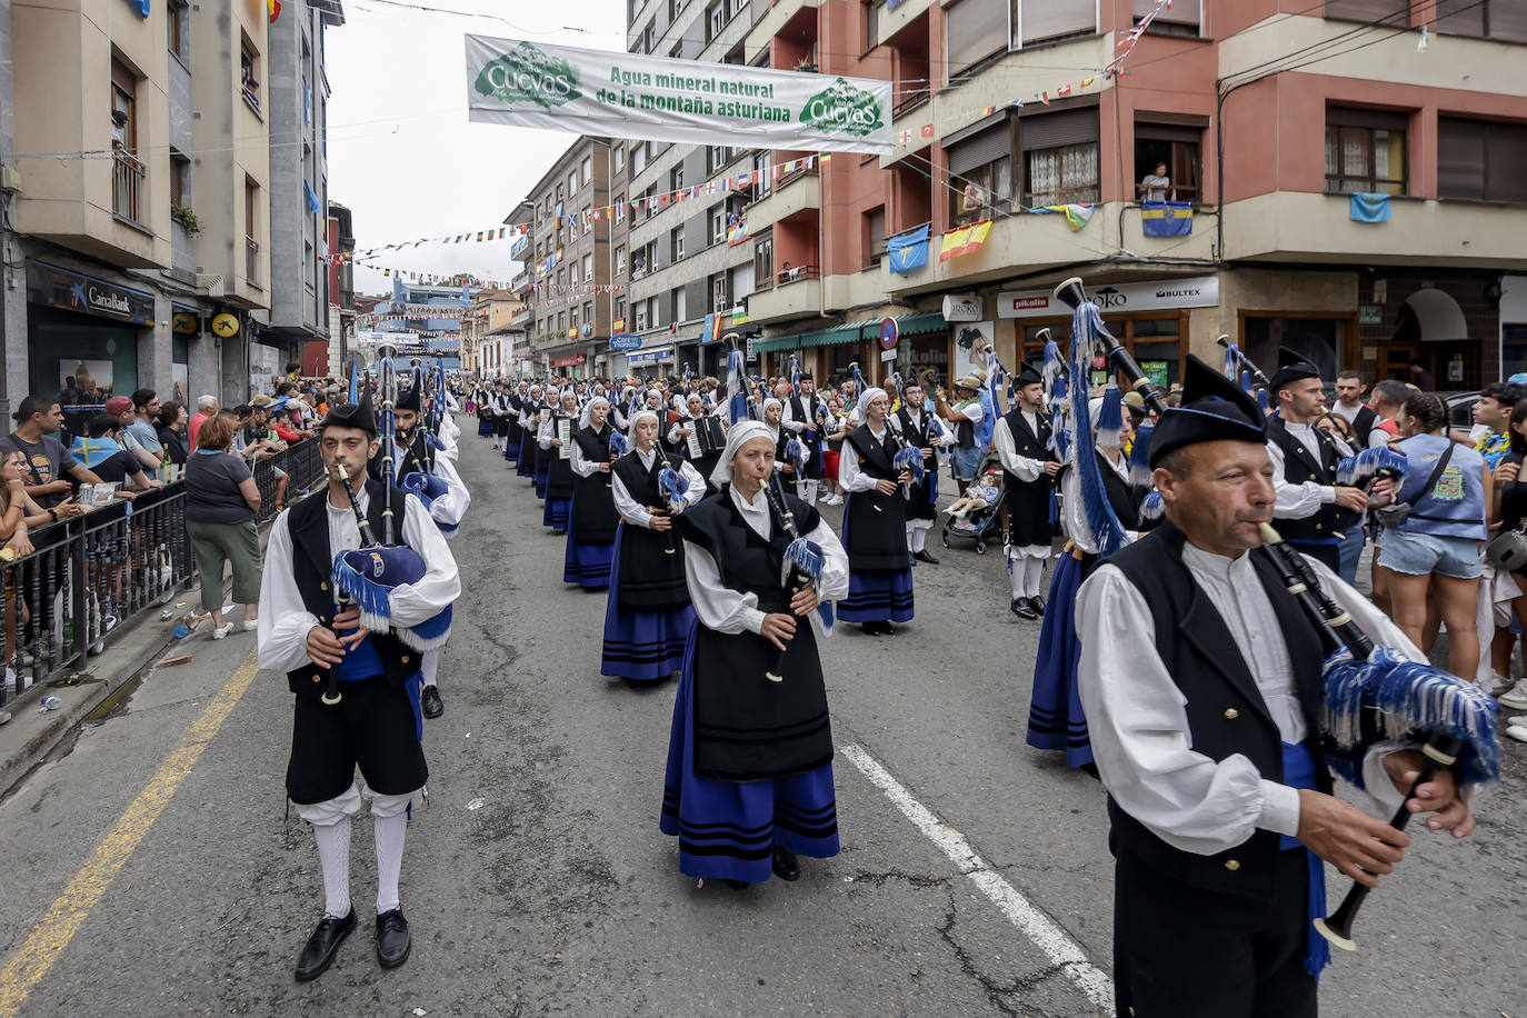
<instances>
[{"instance_id":1,"label":"front centre woman in white headscarf playing bagpipe","mask_svg":"<svg viewBox=\"0 0 1527 1018\"><path fill-rule=\"evenodd\" d=\"M676 522L699 621L673 704L660 829L678 836L680 870L733 890L770 871L799 879L797 853L838 853L832 730L809 618L847 592L849 562L817 510L777 481L764 488L774 443L759 421L738 421L712 475L721 493ZM817 589L782 585L791 519L820 549Z\"/></svg>"}]
</instances>

